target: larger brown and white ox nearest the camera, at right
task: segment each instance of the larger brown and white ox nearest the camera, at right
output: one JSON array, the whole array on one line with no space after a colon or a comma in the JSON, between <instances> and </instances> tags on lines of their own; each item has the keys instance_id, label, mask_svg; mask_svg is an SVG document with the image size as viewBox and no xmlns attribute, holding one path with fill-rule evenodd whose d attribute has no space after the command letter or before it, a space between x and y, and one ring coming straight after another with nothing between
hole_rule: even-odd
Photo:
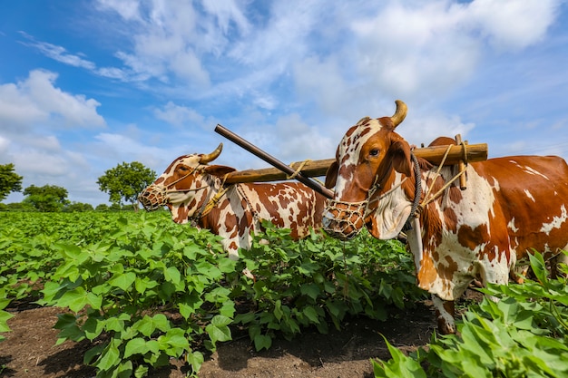
<instances>
[{"instance_id":1,"label":"larger brown and white ox nearest the camera, at right","mask_svg":"<svg viewBox=\"0 0 568 378\"><path fill-rule=\"evenodd\" d=\"M406 105L397 101L392 117L364 118L347 131L326 177L335 197L324 229L346 239L367 227L374 237L390 239L410 225L417 285L433 296L439 331L455 333L454 300L473 280L506 284L533 248L565 262L568 166L553 156L471 162L466 189L455 183L444 189L457 167L437 172L416 159L395 132L405 117Z\"/></svg>"}]
</instances>

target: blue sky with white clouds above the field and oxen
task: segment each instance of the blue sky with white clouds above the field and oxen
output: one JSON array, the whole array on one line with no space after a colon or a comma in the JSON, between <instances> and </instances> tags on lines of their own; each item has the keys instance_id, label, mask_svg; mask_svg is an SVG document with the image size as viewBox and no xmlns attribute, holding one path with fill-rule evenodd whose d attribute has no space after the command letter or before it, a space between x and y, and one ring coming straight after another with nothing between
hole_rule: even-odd
<instances>
[{"instance_id":1,"label":"blue sky with white clouds above the field and oxen","mask_svg":"<svg viewBox=\"0 0 568 378\"><path fill-rule=\"evenodd\" d=\"M279 160L328 159L396 99L411 143L568 158L562 0L11 1L0 52L0 164L93 205L122 162L161 174L222 141L219 164L267 167L217 123Z\"/></svg>"}]
</instances>

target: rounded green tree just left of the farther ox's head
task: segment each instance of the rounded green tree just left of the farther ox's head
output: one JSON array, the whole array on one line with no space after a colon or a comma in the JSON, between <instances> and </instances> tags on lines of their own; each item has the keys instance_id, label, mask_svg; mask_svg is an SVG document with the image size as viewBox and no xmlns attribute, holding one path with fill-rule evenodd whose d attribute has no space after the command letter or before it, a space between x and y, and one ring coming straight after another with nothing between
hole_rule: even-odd
<instances>
[{"instance_id":1,"label":"rounded green tree just left of the farther ox's head","mask_svg":"<svg viewBox=\"0 0 568 378\"><path fill-rule=\"evenodd\" d=\"M117 165L111 170L106 170L104 175L97 180L99 188L109 194L113 205L122 205L122 200L131 202L135 210L138 209L138 194L144 188L152 184L156 179L156 172L144 167L138 161Z\"/></svg>"}]
</instances>

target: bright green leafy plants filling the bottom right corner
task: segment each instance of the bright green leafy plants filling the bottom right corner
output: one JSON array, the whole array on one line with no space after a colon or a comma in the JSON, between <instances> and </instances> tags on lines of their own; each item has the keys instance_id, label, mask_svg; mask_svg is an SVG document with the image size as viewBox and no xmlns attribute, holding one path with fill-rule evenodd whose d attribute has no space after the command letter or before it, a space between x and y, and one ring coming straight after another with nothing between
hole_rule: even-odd
<instances>
[{"instance_id":1,"label":"bright green leafy plants filling the bottom right corner","mask_svg":"<svg viewBox=\"0 0 568 378\"><path fill-rule=\"evenodd\" d=\"M531 258L537 281L489 285L465 312L458 335L433 340L405 356L387 343L388 362L372 361L376 377L564 377L568 374L568 286L550 278L540 254ZM568 271L564 268L564 274ZM424 366L424 367L423 367Z\"/></svg>"}]
</instances>

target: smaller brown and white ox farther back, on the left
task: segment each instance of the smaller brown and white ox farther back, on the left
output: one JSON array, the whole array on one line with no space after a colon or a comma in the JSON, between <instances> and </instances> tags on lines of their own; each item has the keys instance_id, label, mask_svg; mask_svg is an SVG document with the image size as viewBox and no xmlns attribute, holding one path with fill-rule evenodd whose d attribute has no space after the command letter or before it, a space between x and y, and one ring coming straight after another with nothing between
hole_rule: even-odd
<instances>
[{"instance_id":1,"label":"smaller brown and white ox farther back, on the left","mask_svg":"<svg viewBox=\"0 0 568 378\"><path fill-rule=\"evenodd\" d=\"M183 155L144 189L138 199L150 211L167 206L174 222L192 222L222 237L232 259L240 247L249 249L251 232L266 219L279 228L290 228L294 238L306 237L309 228L322 227L326 199L300 183L223 185L234 168L208 165L217 159L222 143L210 154Z\"/></svg>"}]
</instances>

